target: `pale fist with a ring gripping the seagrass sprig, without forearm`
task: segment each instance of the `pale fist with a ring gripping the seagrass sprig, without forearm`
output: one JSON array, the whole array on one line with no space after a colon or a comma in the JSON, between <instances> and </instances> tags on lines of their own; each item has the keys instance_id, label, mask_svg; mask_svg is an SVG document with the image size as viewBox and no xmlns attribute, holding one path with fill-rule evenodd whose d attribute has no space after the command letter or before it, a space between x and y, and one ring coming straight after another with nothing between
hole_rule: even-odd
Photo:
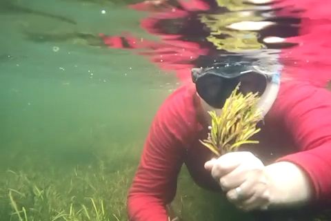
<instances>
[{"instance_id":1,"label":"pale fist with a ring gripping the seagrass sprig, without forearm","mask_svg":"<svg viewBox=\"0 0 331 221\"><path fill-rule=\"evenodd\" d=\"M265 166L250 152L232 152L205 163L230 202L244 211L268 209L270 179Z\"/></svg>"}]
</instances>

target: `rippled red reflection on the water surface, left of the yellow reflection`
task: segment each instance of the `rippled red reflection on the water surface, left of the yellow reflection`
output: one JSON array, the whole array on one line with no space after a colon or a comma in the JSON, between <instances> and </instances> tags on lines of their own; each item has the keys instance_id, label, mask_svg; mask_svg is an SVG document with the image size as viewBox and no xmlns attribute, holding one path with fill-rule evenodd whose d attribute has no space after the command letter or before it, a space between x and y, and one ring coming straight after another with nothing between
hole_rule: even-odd
<instances>
[{"instance_id":1,"label":"rippled red reflection on the water surface, left of the yellow reflection","mask_svg":"<svg viewBox=\"0 0 331 221\"><path fill-rule=\"evenodd\" d=\"M161 41L137 39L130 33L123 33L120 36L101 34L104 43L110 48L143 49L137 50L139 55L148 57L162 70L174 71L181 81L190 79L190 69L194 67L194 60L200 55L206 55L208 48L203 48L198 42L183 39L183 35L163 32L158 23L167 19L188 17L190 12L208 10L210 5L201 0L172 1L172 3L168 0L160 0L143 1L128 7L150 12L150 15L140 22L141 28L152 35L157 35Z\"/></svg>"}]
</instances>

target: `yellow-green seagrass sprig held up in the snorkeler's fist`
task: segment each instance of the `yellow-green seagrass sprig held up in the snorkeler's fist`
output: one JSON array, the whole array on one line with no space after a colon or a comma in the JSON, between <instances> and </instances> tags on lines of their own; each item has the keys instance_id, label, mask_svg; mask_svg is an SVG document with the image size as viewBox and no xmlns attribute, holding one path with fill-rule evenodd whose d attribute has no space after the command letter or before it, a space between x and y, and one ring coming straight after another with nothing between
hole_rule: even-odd
<instances>
[{"instance_id":1,"label":"yellow-green seagrass sprig held up in the snorkeler's fist","mask_svg":"<svg viewBox=\"0 0 331 221\"><path fill-rule=\"evenodd\" d=\"M257 109L259 97L257 93L243 95L239 86L232 91L217 115L215 111L208 111L212 117L212 125L208 139L200 142L217 156L230 151L237 151L242 144L258 144L259 141L249 140L258 133L257 123L263 118Z\"/></svg>"}]
</instances>

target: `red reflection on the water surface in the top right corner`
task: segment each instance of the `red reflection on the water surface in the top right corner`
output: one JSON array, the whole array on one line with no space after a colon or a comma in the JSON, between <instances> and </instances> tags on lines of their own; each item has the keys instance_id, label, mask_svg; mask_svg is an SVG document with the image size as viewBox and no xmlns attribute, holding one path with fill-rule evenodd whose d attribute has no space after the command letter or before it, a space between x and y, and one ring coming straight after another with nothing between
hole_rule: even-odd
<instances>
[{"instance_id":1,"label":"red reflection on the water surface in the top right corner","mask_svg":"<svg viewBox=\"0 0 331 221\"><path fill-rule=\"evenodd\" d=\"M331 1L285 0L275 6L300 10L299 35L286 39L299 45L281 50L284 73L324 87L331 80ZM288 58L295 61L288 62Z\"/></svg>"}]
</instances>

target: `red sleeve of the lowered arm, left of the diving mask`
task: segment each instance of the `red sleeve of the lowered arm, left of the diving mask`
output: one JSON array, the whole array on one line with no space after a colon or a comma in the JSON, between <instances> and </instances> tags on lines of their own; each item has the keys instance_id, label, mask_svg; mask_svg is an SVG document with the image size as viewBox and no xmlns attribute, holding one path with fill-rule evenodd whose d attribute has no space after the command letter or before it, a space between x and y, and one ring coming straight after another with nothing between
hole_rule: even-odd
<instances>
[{"instance_id":1,"label":"red sleeve of the lowered arm, left of the diving mask","mask_svg":"<svg viewBox=\"0 0 331 221\"><path fill-rule=\"evenodd\" d=\"M152 122L128 195L132 221L168 220L165 204L176 193L177 175L185 155L185 134L190 129L190 119L185 116L190 115L191 105L183 101L183 93L179 91L167 99Z\"/></svg>"}]
</instances>

